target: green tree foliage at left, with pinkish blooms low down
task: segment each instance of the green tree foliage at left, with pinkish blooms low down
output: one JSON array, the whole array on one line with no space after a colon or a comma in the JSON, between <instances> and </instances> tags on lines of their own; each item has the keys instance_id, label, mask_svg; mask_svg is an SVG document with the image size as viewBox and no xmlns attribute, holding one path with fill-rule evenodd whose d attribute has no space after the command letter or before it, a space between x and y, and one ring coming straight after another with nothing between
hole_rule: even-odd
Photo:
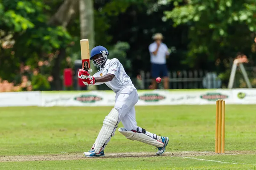
<instances>
[{"instance_id":1,"label":"green tree foliage at left, with pinkish blooms low down","mask_svg":"<svg viewBox=\"0 0 256 170\"><path fill-rule=\"evenodd\" d=\"M0 3L2 79L19 84L25 76L28 86L33 86L34 90L49 89L55 59L60 49L68 48L72 40L62 26L48 24L50 9L43 0L3 0Z\"/></svg>"}]
</instances>

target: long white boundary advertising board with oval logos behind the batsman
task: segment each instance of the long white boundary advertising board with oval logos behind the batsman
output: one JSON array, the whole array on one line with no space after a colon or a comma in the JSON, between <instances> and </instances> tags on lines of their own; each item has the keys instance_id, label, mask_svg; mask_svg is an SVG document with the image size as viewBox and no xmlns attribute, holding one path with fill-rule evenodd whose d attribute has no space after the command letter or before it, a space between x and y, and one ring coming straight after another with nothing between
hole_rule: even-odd
<instances>
[{"instance_id":1,"label":"long white boundary advertising board with oval logos behind the batsman","mask_svg":"<svg viewBox=\"0 0 256 170\"><path fill-rule=\"evenodd\" d=\"M144 90L137 105L256 104L256 89ZM0 93L0 107L9 106L113 106L112 91L31 91Z\"/></svg>"}]
</instances>

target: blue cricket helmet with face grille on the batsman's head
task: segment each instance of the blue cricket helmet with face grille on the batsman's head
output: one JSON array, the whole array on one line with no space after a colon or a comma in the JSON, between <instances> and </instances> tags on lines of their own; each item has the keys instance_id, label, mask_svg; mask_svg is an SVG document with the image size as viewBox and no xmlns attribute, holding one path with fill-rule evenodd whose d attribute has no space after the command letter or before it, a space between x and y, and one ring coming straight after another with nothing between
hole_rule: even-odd
<instances>
[{"instance_id":1,"label":"blue cricket helmet with face grille on the batsman's head","mask_svg":"<svg viewBox=\"0 0 256 170\"><path fill-rule=\"evenodd\" d=\"M99 57L94 60L93 57L97 54L102 54L102 57ZM91 50L90 59L93 59L93 65L95 65L96 67L100 67L107 60L108 54L109 53L107 48L99 45Z\"/></svg>"}]
</instances>

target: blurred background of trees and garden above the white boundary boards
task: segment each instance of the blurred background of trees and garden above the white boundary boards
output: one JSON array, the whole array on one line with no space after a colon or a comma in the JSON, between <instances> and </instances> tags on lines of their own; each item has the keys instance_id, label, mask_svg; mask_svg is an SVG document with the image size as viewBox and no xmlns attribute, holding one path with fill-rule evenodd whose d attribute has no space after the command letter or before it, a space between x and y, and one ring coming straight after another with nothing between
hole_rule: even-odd
<instances>
[{"instance_id":1,"label":"blurred background of trees and garden above the white boundary boards","mask_svg":"<svg viewBox=\"0 0 256 170\"><path fill-rule=\"evenodd\" d=\"M0 0L0 16L0 92L109 89L77 79L83 38L150 89L156 33L170 53L169 89L227 88L236 58L256 88L255 0ZM247 88L239 67L233 88Z\"/></svg>"}]
</instances>

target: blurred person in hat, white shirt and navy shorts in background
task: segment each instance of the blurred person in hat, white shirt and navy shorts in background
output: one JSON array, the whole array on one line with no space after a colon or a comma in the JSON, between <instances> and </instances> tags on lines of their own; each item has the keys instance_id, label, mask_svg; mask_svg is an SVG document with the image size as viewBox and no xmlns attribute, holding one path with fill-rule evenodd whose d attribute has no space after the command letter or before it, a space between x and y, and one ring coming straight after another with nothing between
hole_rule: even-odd
<instances>
[{"instance_id":1,"label":"blurred person in hat, white shirt and navy shorts in background","mask_svg":"<svg viewBox=\"0 0 256 170\"><path fill-rule=\"evenodd\" d=\"M167 66L166 66L166 58L169 57L169 49L167 45L162 42L163 35L161 33L157 33L153 36L154 42L148 46L148 50L150 52L150 62L151 67L158 67L157 69L151 68L152 74L152 89L156 89L157 84L155 81L156 77L163 76L163 85L164 89L169 89L169 79L167 75Z\"/></svg>"}]
</instances>

